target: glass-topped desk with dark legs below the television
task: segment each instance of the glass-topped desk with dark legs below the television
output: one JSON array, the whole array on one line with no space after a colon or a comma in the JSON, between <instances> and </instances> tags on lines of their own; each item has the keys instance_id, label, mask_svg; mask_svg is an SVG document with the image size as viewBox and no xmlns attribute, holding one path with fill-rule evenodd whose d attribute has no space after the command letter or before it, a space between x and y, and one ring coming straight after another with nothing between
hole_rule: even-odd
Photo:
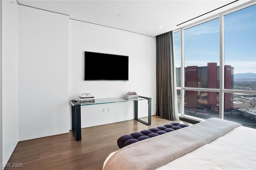
<instances>
[{"instance_id":1,"label":"glass-topped desk with dark legs below the television","mask_svg":"<svg viewBox=\"0 0 256 170\"><path fill-rule=\"evenodd\" d=\"M139 100L148 100L148 122L138 119L138 101ZM124 98L95 98L95 102L80 104L78 101L71 100L71 111L72 111L72 131L76 141L81 140L81 106L93 105L93 104L106 104L106 103L118 103L118 102L134 102L134 119L144 123L146 125L151 125L151 98L139 96L136 100L125 100Z\"/></svg>"}]
</instances>

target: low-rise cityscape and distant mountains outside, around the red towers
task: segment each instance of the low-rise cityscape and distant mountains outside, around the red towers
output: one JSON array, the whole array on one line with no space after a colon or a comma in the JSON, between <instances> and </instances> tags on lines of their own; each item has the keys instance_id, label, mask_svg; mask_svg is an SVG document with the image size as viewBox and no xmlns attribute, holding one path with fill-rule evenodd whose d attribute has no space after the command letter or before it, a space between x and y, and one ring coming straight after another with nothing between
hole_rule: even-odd
<instances>
[{"instance_id":1,"label":"low-rise cityscape and distant mountains outside, around the red towers","mask_svg":"<svg viewBox=\"0 0 256 170\"><path fill-rule=\"evenodd\" d=\"M248 73L251 77L243 76L243 80L234 75L232 89L256 91L256 74ZM255 78L254 78L254 77ZM202 84L198 82L198 84ZM196 107L187 107L188 96L185 96L185 115L202 119L219 117L219 93L216 93L216 104L209 105L209 92L196 92ZM186 94L187 95L187 94ZM225 100L227 101L227 100ZM224 119L241 123L243 126L256 129L256 95L234 93L230 95L230 108L224 109ZM225 105L225 104L224 104Z\"/></svg>"}]
</instances>

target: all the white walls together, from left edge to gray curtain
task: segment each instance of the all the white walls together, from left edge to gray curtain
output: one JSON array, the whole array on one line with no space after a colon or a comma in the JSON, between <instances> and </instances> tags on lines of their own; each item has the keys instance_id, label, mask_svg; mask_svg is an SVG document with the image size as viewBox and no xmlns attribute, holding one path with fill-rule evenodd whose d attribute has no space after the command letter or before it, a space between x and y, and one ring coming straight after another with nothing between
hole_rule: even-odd
<instances>
[{"instance_id":1,"label":"all the white walls together, from left edge to gray curtain","mask_svg":"<svg viewBox=\"0 0 256 170\"><path fill-rule=\"evenodd\" d=\"M18 141L67 133L71 129L68 101L83 92L108 98L136 91L152 98L155 114L155 38L69 20L68 16L18 6L12 0L0 1L0 9L1 165L7 163ZM129 81L85 82L84 51L129 55ZM111 111L102 115L102 107ZM133 102L82 108L82 127L134 116Z\"/></svg>"}]
</instances>

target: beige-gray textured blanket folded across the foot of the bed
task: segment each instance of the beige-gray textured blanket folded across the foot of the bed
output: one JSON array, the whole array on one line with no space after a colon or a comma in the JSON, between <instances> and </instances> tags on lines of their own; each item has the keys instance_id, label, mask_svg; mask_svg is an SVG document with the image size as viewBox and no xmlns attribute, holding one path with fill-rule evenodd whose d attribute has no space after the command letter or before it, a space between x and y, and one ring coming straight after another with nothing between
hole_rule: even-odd
<instances>
[{"instance_id":1,"label":"beige-gray textured blanket folded across the foot of the bed","mask_svg":"<svg viewBox=\"0 0 256 170\"><path fill-rule=\"evenodd\" d=\"M103 170L153 170L240 126L210 118L195 125L133 143L118 150Z\"/></svg>"}]
</instances>

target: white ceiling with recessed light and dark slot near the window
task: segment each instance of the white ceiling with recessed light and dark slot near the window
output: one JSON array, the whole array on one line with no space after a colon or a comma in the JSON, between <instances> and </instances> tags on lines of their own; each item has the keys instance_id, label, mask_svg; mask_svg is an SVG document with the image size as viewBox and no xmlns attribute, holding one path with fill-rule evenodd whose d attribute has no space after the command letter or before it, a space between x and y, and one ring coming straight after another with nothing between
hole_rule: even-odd
<instances>
[{"instance_id":1,"label":"white ceiling with recessed light and dark slot near the window","mask_svg":"<svg viewBox=\"0 0 256 170\"><path fill-rule=\"evenodd\" d=\"M154 37L202 20L248 0L17 0L18 4L60 14L70 19ZM228 6L229 4L234 2ZM223 8L220 8L225 6ZM215 10L220 8L218 10ZM214 12L210 12L215 10ZM202 14L206 14L201 16ZM191 20L176 26L185 21ZM162 26L162 28L159 28Z\"/></svg>"}]
</instances>

